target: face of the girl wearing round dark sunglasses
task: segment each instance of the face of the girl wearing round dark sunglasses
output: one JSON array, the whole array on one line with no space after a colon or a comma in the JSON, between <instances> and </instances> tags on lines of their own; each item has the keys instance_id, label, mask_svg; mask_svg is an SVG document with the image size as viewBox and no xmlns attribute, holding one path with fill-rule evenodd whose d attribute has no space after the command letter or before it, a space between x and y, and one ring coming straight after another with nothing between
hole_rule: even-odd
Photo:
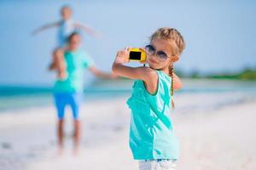
<instances>
[{"instance_id":1,"label":"face of the girl wearing round dark sunglasses","mask_svg":"<svg viewBox=\"0 0 256 170\"><path fill-rule=\"evenodd\" d=\"M165 70L174 62L172 61L171 44L165 39L154 38L150 42L152 52L154 54L147 54L148 65L154 70ZM163 58L166 54L166 58ZM160 55L162 57L160 58Z\"/></svg>"}]
</instances>

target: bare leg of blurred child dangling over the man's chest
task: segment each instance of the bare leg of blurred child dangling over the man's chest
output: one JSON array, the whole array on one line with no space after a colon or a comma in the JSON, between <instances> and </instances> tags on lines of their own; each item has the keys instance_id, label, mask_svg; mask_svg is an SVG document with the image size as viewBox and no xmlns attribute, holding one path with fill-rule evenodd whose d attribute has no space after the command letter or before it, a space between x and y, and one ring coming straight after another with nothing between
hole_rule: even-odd
<instances>
[{"instance_id":1,"label":"bare leg of blurred child dangling over the man's chest","mask_svg":"<svg viewBox=\"0 0 256 170\"><path fill-rule=\"evenodd\" d=\"M50 70L56 69L60 79L65 79L67 77L64 53L61 48L55 49L53 53L53 61L49 68Z\"/></svg>"}]
</instances>

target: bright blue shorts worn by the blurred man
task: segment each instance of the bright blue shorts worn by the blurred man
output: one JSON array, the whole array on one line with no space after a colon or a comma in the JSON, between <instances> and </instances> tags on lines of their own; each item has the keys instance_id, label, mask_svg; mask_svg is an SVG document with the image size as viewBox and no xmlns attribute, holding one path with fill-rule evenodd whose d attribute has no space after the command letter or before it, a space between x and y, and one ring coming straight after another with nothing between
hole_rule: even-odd
<instances>
[{"instance_id":1,"label":"bright blue shorts worn by the blurred man","mask_svg":"<svg viewBox=\"0 0 256 170\"><path fill-rule=\"evenodd\" d=\"M58 112L58 118L63 119L66 105L70 105L73 112L73 119L79 119L79 105L82 103L83 94L80 93L56 93L55 106Z\"/></svg>"}]
</instances>

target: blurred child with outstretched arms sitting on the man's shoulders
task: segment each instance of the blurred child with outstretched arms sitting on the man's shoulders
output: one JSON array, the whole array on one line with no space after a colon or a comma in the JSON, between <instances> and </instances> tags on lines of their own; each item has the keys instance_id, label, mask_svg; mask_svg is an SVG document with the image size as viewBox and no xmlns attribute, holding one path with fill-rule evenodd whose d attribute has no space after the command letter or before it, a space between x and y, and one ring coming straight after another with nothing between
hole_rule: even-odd
<instances>
[{"instance_id":1,"label":"blurred child with outstretched arms sitting on the man's shoulders","mask_svg":"<svg viewBox=\"0 0 256 170\"><path fill-rule=\"evenodd\" d=\"M89 33L92 36L98 37L99 33L91 29L89 26L86 26L78 21L73 20L72 18L72 9L68 5L65 5L61 8L61 20L44 25L36 29L32 32L32 35L38 34L40 31L44 31L49 28L58 28L57 33L57 48L55 48L55 51L53 53L53 59L52 63L49 65L49 69L56 69L58 71L58 77L60 79L65 79L67 77L66 75L66 65L63 60L63 48L67 45L67 37L73 32L73 31L79 31L83 30L87 33Z\"/></svg>"}]
</instances>

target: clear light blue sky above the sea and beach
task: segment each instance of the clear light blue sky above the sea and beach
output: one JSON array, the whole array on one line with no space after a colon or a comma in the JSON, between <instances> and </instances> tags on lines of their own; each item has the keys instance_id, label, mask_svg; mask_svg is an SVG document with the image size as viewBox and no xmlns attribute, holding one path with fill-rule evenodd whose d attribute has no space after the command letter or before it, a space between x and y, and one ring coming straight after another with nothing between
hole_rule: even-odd
<instances>
[{"instance_id":1,"label":"clear light blue sky above the sea and beach","mask_svg":"<svg viewBox=\"0 0 256 170\"><path fill-rule=\"evenodd\" d=\"M83 34L84 48L102 71L110 71L120 48L143 47L157 28L177 28L186 48L175 68L211 73L256 67L256 2L244 1L0 1L0 85L50 85L47 71L56 29L32 36L38 26L60 20L61 6L73 19L100 31ZM137 65L137 64L132 64ZM91 79L89 73L85 78Z\"/></svg>"}]
</instances>

